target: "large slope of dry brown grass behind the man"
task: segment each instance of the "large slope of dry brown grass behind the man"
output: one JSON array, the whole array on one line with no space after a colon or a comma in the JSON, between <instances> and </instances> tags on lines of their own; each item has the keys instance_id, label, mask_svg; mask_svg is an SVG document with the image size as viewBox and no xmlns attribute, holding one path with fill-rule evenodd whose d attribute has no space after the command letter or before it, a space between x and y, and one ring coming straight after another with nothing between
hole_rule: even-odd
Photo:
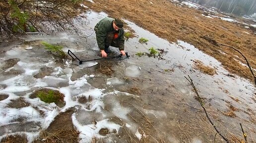
<instances>
[{"instance_id":1,"label":"large slope of dry brown grass behind the man","mask_svg":"<svg viewBox=\"0 0 256 143\"><path fill-rule=\"evenodd\" d=\"M112 17L123 17L142 28L167 39L170 42L183 40L213 56L232 74L250 79L253 76L248 67L242 66L234 58L241 57L231 48L216 47L210 41L216 41L239 49L256 67L256 38L244 27L218 18L209 19L201 15L202 11L174 5L167 0L157 0L150 4L147 0L94 0L84 3L96 11L105 11ZM104 7L106 6L106 7ZM163 22L164 21L164 22ZM203 37L208 37L205 40ZM247 41L250 40L248 43ZM223 55L220 51L227 53ZM242 58L242 57L241 57ZM243 59L243 58L242 58ZM242 61L245 63L244 61Z\"/></svg>"}]
</instances>

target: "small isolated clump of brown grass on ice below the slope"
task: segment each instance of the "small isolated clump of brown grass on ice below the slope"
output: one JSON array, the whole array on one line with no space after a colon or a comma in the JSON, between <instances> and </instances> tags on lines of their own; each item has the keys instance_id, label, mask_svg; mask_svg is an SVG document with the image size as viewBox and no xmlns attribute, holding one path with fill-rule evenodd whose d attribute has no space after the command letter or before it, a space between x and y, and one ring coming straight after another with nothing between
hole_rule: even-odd
<instances>
[{"instance_id":1,"label":"small isolated clump of brown grass on ice below the slope","mask_svg":"<svg viewBox=\"0 0 256 143\"><path fill-rule=\"evenodd\" d=\"M194 68L198 69L202 73L207 74L207 75L211 75L211 76L216 74L216 71L215 71L214 68L211 68L209 66L204 65L201 61L193 60L193 62L194 62Z\"/></svg>"}]
</instances>

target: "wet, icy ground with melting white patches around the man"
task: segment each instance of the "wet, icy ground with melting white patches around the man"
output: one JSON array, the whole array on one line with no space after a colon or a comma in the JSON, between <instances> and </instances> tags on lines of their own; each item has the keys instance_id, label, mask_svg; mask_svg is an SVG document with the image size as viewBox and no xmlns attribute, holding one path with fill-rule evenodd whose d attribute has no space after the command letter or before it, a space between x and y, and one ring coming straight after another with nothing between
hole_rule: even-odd
<instances>
[{"instance_id":1,"label":"wet, icy ground with melting white patches around the man","mask_svg":"<svg viewBox=\"0 0 256 143\"><path fill-rule=\"evenodd\" d=\"M63 123L59 114L64 112L68 130L73 131L71 121L80 143L214 143L216 132L185 78L189 75L221 133L232 143L239 143L243 140L242 123L249 143L256 142L254 85L230 74L216 59L190 44L169 43L127 20L137 35L126 41L129 58L77 66L71 58L57 60L40 44L63 45L65 52L70 49L83 60L100 58L93 27L105 16L89 11L74 20L77 31L27 35L2 47L2 141L6 136L25 134L29 142L44 143L49 135L40 133L61 130L58 120ZM149 40L147 44L138 42L142 37ZM151 47L162 51L163 59L135 55L149 52ZM119 54L117 48L110 49L109 56ZM195 69L196 60L214 68L216 74ZM88 65L94 66L84 68ZM104 72L107 70L110 74ZM64 107L29 97L43 87L64 94ZM215 143L223 141L216 136Z\"/></svg>"}]
</instances>

